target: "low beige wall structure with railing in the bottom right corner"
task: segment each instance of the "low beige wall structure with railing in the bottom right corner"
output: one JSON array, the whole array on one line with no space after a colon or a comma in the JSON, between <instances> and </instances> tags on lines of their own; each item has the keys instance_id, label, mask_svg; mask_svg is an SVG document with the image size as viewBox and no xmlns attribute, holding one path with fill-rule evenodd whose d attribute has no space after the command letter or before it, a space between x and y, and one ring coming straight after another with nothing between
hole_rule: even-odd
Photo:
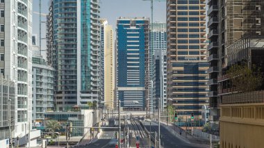
<instances>
[{"instance_id":1,"label":"low beige wall structure with railing in the bottom right corner","mask_svg":"<svg viewBox=\"0 0 264 148\"><path fill-rule=\"evenodd\" d=\"M264 135L264 92L229 94L220 105L220 147L260 148ZM234 102L240 102L233 104ZM249 102L249 103L247 103Z\"/></svg>"}]
</instances>

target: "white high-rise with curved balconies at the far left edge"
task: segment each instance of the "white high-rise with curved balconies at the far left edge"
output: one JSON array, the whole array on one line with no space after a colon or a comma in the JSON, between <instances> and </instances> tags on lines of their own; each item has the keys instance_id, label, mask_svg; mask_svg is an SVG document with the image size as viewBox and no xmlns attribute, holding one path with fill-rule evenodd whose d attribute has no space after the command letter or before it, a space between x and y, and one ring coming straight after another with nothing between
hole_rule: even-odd
<instances>
[{"instance_id":1,"label":"white high-rise with curved balconies at the far left edge","mask_svg":"<svg viewBox=\"0 0 264 148\"><path fill-rule=\"evenodd\" d=\"M15 117L11 119L11 125L15 126L11 126L10 137L26 139L32 129L32 1L0 1L0 21L0 72L15 83L10 84L15 90L9 89L11 104L15 105ZM3 80L4 104L8 101L7 84ZM19 145L29 146L28 141L21 140Z\"/></svg>"}]
</instances>

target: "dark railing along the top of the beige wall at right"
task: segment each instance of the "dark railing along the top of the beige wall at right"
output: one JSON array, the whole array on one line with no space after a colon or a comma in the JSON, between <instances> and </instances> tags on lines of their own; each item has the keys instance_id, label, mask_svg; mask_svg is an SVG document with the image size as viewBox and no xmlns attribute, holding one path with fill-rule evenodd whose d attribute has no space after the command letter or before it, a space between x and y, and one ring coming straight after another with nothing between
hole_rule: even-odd
<instances>
[{"instance_id":1,"label":"dark railing along the top of the beige wall at right","mask_svg":"<svg viewBox=\"0 0 264 148\"><path fill-rule=\"evenodd\" d=\"M264 103L264 90L226 94L223 95L221 99L221 104L252 104L252 103Z\"/></svg>"}]
</instances>

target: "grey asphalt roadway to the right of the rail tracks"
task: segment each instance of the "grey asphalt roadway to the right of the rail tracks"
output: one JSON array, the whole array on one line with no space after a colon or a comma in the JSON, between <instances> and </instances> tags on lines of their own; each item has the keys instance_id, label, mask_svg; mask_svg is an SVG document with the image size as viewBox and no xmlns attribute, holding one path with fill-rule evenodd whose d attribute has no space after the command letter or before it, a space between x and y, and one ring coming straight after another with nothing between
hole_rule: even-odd
<instances>
[{"instance_id":1,"label":"grey asphalt roadway to the right of the rail tracks","mask_svg":"<svg viewBox=\"0 0 264 148\"><path fill-rule=\"evenodd\" d=\"M143 123L144 124L144 123ZM149 131L149 122L145 122L145 127ZM151 122L151 132L156 131L158 133L158 125ZM163 126L160 126L160 145L164 148L207 148L205 145L197 145L185 142L179 137L176 137Z\"/></svg>"}]
</instances>

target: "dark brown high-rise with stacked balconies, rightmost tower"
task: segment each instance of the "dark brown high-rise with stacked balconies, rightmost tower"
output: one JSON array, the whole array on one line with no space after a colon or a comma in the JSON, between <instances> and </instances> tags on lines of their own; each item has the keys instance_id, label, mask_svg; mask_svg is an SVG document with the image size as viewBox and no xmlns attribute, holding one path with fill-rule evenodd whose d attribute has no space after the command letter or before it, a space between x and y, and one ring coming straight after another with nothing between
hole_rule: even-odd
<instances>
[{"instance_id":1,"label":"dark brown high-rise with stacked balconies, rightmost tower","mask_svg":"<svg viewBox=\"0 0 264 148\"><path fill-rule=\"evenodd\" d=\"M247 36L263 35L264 1L208 1L208 51L210 56L210 116L211 129L218 131L220 100L230 87L226 76L226 52L231 44Z\"/></svg>"}]
</instances>

